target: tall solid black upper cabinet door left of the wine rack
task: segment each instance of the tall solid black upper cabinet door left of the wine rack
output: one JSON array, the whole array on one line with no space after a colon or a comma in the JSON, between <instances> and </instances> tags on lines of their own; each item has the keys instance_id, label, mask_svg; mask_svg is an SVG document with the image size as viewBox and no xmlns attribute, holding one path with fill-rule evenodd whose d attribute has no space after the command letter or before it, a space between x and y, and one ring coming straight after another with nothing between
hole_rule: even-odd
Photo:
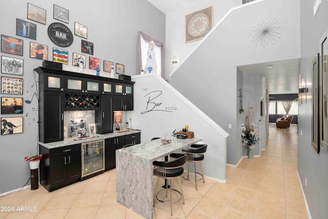
<instances>
[{"instance_id":1,"label":"tall solid black upper cabinet door left of the wine rack","mask_svg":"<svg viewBox=\"0 0 328 219\"><path fill-rule=\"evenodd\" d=\"M44 106L40 109L44 124L40 124L40 141L43 143L64 140L64 93L44 92Z\"/></svg>"}]
</instances>

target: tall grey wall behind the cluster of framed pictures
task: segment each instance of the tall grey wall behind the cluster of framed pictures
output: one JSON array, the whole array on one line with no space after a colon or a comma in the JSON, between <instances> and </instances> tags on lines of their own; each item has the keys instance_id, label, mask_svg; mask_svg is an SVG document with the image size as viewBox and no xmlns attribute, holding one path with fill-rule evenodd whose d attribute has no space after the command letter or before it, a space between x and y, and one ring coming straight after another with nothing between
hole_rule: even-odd
<instances>
[{"instance_id":1,"label":"tall grey wall behind the cluster of framed pictures","mask_svg":"<svg viewBox=\"0 0 328 219\"><path fill-rule=\"evenodd\" d=\"M27 19L27 3L31 3L47 11L46 25ZM87 56L100 58L101 76L110 76L103 71L103 61L111 61L125 65L125 74L134 75L136 69L136 45L138 31L145 32L159 41L165 43L165 14L151 5L147 0L129 1L113 0L100 1L65 1L55 2L42 0L20 0L2 2L0 7L1 34L17 37L24 40L24 56L1 53L10 57L24 59L24 94L5 95L10 97L23 97L24 101L31 99L36 91L35 82L38 75L33 74L33 69L42 66L42 60L30 58L30 42L47 45L49 48L48 60L52 61L52 49L58 48L47 34L51 23L59 22L53 18L53 4L69 10L69 23L65 25L74 33L74 22L88 27L89 42L94 43L94 55L81 53L81 37L75 36L69 47L62 49L69 52L69 63L63 65L64 70L78 72L78 67L72 66L72 53L77 52ZM36 40L16 36L16 18L37 25ZM60 47L59 47L60 48ZM87 62L87 65L89 62ZM95 70L85 69L86 74L96 74ZM1 74L2 76L13 76ZM115 75L117 78L118 75ZM33 86L34 84L34 86ZM25 156L37 153L37 98L31 104L24 104L24 133L1 135L0 145L2 158L0 159L0 173L6 176L0 181L0 194L22 187L29 179L30 170ZM7 115L2 115L2 117ZM8 115L12 116L12 115Z\"/></svg>"}]
</instances>

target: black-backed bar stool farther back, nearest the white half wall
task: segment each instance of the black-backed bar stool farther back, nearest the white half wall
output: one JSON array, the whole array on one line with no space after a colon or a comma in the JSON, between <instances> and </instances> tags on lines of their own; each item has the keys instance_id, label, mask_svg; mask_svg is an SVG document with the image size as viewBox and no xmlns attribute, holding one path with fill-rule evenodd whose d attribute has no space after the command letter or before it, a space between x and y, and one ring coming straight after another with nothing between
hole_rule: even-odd
<instances>
[{"instance_id":1,"label":"black-backed bar stool farther back, nearest the white half wall","mask_svg":"<svg viewBox=\"0 0 328 219\"><path fill-rule=\"evenodd\" d=\"M207 150L207 144L201 144L201 145L193 144L190 147L191 148L183 148L182 149L182 152L187 155L187 161L189 162L188 163L188 172L186 173L187 177L185 177L186 174L183 174L182 177L185 180L193 181L193 180L191 180L191 178L189 178L189 171L190 171L190 163L194 163L195 186L196 186L196 190L197 190L197 174L201 175L201 178L199 180L203 180L203 183L205 183L204 172L203 172L203 168L201 166L201 162L204 160L204 153ZM196 172L196 163L199 163L201 173Z\"/></svg>"}]
</instances>

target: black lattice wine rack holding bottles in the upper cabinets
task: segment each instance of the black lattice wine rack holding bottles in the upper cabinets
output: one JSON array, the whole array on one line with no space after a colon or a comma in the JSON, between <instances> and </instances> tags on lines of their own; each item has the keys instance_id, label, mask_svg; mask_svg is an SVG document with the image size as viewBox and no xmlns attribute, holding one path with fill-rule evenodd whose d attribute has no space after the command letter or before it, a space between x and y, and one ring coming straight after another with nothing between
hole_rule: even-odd
<instances>
[{"instance_id":1,"label":"black lattice wine rack holding bottles in the upper cabinets","mask_svg":"<svg viewBox=\"0 0 328 219\"><path fill-rule=\"evenodd\" d=\"M100 109L100 95L66 94L66 110Z\"/></svg>"}]
</instances>

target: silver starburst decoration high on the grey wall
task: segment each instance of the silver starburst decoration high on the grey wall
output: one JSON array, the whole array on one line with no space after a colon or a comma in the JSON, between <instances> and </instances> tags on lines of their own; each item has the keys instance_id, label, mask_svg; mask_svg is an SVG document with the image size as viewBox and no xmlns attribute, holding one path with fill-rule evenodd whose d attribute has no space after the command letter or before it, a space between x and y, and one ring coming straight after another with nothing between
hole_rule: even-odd
<instances>
[{"instance_id":1,"label":"silver starburst decoration high on the grey wall","mask_svg":"<svg viewBox=\"0 0 328 219\"><path fill-rule=\"evenodd\" d=\"M252 32L250 33L252 40L255 45L260 44L265 46L265 44L273 44L276 38L280 38L280 31L283 28L280 25L281 21L277 21L276 17L273 19L265 17L261 21L258 21L256 26L252 26Z\"/></svg>"}]
</instances>

